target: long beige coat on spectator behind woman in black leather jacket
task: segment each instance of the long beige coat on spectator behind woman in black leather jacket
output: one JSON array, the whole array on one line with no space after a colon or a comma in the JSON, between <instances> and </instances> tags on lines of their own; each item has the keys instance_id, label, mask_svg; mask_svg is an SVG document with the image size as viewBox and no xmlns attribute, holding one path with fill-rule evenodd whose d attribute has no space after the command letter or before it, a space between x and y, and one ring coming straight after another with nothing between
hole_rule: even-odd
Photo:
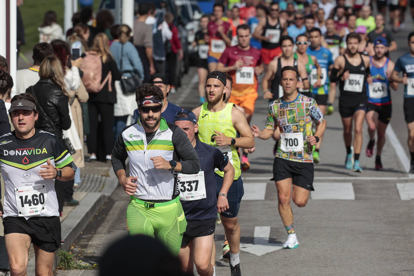
<instances>
[{"instance_id":1,"label":"long beige coat on spectator behind woman in black leather jacket","mask_svg":"<svg viewBox=\"0 0 414 276\"><path fill-rule=\"evenodd\" d=\"M69 91L70 100L75 97L73 100L72 105L70 108L72 109L72 116L73 116L73 123L76 125L76 130L79 134L79 139L83 143L83 119L82 119L82 108L80 106L80 103L86 103L89 99L89 94L86 91L85 86L83 85L82 81L80 84L79 89L73 91ZM72 154L73 161L75 162L75 165L78 168L83 168L85 166L85 157L84 157L84 151L83 149L76 151L75 154Z\"/></svg>"}]
</instances>

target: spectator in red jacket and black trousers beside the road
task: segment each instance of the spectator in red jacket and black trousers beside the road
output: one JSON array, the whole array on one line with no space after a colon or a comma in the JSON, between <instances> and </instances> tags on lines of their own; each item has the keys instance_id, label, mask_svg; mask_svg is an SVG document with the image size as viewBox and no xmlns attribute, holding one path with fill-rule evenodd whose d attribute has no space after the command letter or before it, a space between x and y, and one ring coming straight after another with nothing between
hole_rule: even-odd
<instances>
[{"instance_id":1,"label":"spectator in red jacket and black trousers beside the road","mask_svg":"<svg viewBox=\"0 0 414 276\"><path fill-rule=\"evenodd\" d=\"M176 73L178 71L177 61L183 59L183 48L178 37L178 29L174 25L174 16L172 13L165 15L165 21L168 23L170 30L173 32L173 37L167 45L167 62L168 62L168 82L171 85L171 93L176 93ZM171 45L171 46L169 46Z\"/></svg>"}]
</instances>

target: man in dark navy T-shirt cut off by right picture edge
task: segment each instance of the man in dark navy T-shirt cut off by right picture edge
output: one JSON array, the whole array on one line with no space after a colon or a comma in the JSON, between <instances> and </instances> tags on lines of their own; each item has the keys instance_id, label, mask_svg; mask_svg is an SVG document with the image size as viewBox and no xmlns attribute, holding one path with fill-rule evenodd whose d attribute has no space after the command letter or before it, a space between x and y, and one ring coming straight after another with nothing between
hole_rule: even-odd
<instances>
[{"instance_id":1,"label":"man in dark navy T-shirt cut off by right picture edge","mask_svg":"<svg viewBox=\"0 0 414 276\"><path fill-rule=\"evenodd\" d=\"M395 62L391 79L404 84L404 117L408 128L408 149L411 155L409 173L414 173L414 31L408 34L409 52ZM402 72L403 77L398 77Z\"/></svg>"}]
</instances>

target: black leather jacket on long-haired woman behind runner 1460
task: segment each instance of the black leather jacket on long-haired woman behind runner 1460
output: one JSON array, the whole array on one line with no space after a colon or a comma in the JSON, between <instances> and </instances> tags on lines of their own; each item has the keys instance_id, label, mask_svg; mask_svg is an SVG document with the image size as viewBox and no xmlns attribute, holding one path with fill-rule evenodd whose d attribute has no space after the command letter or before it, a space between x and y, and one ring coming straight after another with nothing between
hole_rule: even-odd
<instances>
[{"instance_id":1,"label":"black leather jacket on long-haired woman behind runner 1460","mask_svg":"<svg viewBox=\"0 0 414 276\"><path fill-rule=\"evenodd\" d=\"M39 119L34 127L62 138L62 130L69 129L71 124L68 98L63 94L62 89L51 79L40 79L34 86L26 89L26 93L34 94L37 101Z\"/></svg>"}]
</instances>

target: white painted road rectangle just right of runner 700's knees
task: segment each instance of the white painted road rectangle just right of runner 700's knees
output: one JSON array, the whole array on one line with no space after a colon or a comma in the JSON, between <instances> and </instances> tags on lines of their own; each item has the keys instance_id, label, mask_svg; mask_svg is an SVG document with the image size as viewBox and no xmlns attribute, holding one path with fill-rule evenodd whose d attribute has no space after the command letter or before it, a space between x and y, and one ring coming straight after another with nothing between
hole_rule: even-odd
<instances>
[{"instance_id":1,"label":"white painted road rectangle just right of runner 700's knees","mask_svg":"<svg viewBox=\"0 0 414 276\"><path fill-rule=\"evenodd\" d=\"M349 199L355 200L351 182L314 182L315 191L310 192L311 199Z\"/></svg>"}]
</instances>

